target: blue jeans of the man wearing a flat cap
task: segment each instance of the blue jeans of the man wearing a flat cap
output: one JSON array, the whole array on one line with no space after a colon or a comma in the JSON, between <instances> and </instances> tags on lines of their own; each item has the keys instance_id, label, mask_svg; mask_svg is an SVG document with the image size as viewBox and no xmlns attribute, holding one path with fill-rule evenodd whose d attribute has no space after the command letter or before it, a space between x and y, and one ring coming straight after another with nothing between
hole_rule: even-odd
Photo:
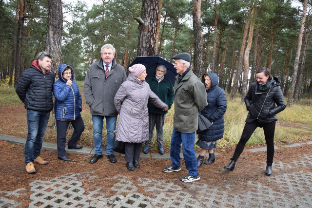
<instances>
[{"instance_id":1,"label":"blue jeans of the man wearing a flat cap","mask_svg":"<svg viewBox=\"0 0 312 208\"><path fill-rule=\"evenodd\" d=\"M183 157L185 161L185 167L189 170L189 175L197 176L197 162L196 155L194 149L195 143L195 132L193 133L182 133L178 132L175 129L172 132L171 137L171 147L170 147L170 158L172 161L172 167L178 168L180 167L180 151L181 151L181 143L183 149Z\"/></svg>"}]
</instances>

